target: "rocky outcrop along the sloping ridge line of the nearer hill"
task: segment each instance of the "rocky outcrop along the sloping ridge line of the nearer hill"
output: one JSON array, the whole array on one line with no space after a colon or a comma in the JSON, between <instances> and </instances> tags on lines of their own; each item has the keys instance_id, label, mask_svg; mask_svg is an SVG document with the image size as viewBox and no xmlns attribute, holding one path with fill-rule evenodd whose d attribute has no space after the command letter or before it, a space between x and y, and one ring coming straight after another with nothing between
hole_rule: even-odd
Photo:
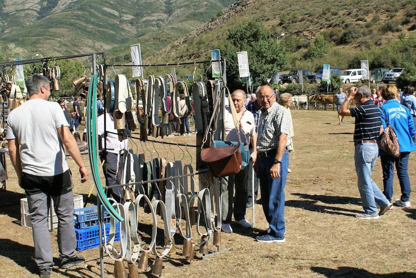
<instances>
[{"instance_id":1,"label":"rocky outcrop along the sloping ridge line of the nearer hill","mask_svg":"<svg viewBox=\"0 0 416 278\"><path fill-rule=\"evenodd\" d=\"M219 17L215 18L214 20L211 20L210 22L207 22L203 26L199 27L195 31L188 34L186 37L183 37L178 40L179 44L184 44L192 37L196 37L200 34L206 33L211 29L214 29L218 25L222 24L224 20L233 17L235 14L238 14L242 12L245 8L249 7L253 4L253 0L240 0L235 1L233 4L229 5L223 10L223 14Z\"/></svg>"}]
</instances>

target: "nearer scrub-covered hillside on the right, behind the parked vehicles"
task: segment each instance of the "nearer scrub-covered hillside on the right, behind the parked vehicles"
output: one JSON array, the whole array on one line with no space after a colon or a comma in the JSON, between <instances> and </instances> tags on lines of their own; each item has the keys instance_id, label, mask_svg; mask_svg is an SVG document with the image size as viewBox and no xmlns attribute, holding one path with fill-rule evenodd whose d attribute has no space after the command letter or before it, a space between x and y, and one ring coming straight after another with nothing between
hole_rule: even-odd
<instances>
[{"instance_id":1,"label":"nearer scrub-covered hillside on the right, behind the parked vehicles","mask_svg":"<svg viewBox=\"0 0 416 278\"><path fill-rule=\"evenodd\" d=\"M357 66L359 59L369 59L372 67L403 66L404 62L416 61L414 0L249 1L240 12L217 20L212 30L182 44L169 45L147 59L206 57L210 49L221 49L219 42L227 30L253 19L262 22L273 37L285 33L279 38L279 44L289 52L283 70L315 70L328 63L346 69Z\"/></svg>"}]
</instances>

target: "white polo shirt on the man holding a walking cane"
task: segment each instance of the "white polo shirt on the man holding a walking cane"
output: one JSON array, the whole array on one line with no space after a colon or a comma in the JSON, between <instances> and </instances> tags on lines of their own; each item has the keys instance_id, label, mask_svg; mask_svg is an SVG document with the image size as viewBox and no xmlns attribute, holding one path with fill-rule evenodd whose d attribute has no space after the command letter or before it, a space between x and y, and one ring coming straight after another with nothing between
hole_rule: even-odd
<instances>
[{"instance_id":1,"label":"white polo shirt on the man holding a walking cane","mask_svg":"<svg viewBox=\"0 0 416 278\"><path fill-rule=\"evenodd\" d=\"M240 123L242 125L242 130L240 130L240 135L245 135L247 143L250 143L250 136L256 134L255 122L253 113L243 107L243 115L241 116ZM225 108L224 113L224 131L225 131L225 140L238 142L237 130L235 129L233 114L231 113L231 108ZM245 143L244 137L241 136L242 143Z\"/></svg>"}]
</instances>

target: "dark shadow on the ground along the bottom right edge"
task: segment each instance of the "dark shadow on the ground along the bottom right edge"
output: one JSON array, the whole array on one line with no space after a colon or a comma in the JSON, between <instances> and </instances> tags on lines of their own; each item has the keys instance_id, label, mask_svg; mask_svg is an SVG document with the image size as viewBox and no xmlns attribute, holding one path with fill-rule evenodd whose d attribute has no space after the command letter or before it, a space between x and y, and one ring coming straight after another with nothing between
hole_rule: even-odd
<instances>
[{"instance_id":1,"label":"dark shadow on the ground along the bottom right edge","mask_svg":"<svg viewBox=\"0 0 416 278\"><path fill-rule=\"evenodd\" d=\"M374 274L369 271L366 271L362 268L355 268L350 266L341 266L338 269L333 268L326 268L326 267L317 267L312 266L311 270L315 273L319 273L324 275L325 277L351 277L351 278L376 278L376 277L383 277L383 278L410 278L416 277L416 273L412 272L396 272L396 273L388 273L388 274Z\"/></svg>"}]
</instances>

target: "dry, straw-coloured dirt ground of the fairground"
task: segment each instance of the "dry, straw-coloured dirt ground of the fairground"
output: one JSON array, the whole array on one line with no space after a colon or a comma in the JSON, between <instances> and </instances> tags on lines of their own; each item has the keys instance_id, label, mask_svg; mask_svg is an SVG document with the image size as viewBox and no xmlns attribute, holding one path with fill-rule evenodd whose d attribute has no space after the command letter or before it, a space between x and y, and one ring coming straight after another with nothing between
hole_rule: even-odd
<instances>
[{"instance_id":1,"label":"dry, straw-coloured dirt ground of the fairground","mask_svg":"<svg viewBox=\"0 0 416 278\"><path fill-rule=\"evenodd\" d=\"M354 170L352 118L346 118L344 125L338 125L333 111L292 110L292 116L295 152L290 154L292 172L288 175L285 190L286 242L264 244L255 241L258 232L267 228L262 207L256 204L255 228L241 229L233 225L233 234L222 233L222 248L233 247L232 251L187 263L180 255L181 241L177 240L178 253L164 260L163 276L416 277L416 209L394 207L374 221L354 217L362 212L362 207ZM196 135L168 139L194 145ZM150 152L156 157L157 150L168 161L173 160L174 154L176 159L184 155L183 161L190 162L185 148L182 152L176 146L154 145L155 148L151 143L146 144L149 149L145 148L146 157ZM195 166L195 149L188 149ZM138 152L142 152L140 143ZM84 161L89 165L87 156ZM32 230L20 226L19 199L25 196L17 185L10 160L7 163L7 191L0 192L0 277L36 277ZM81 184L71 159L69 165L75 172L74 192L84 194L85 198L92 181ZM413 189L415 172L413 154L409 161ZM380 160L376 163L373 179L382 187ZM399 196L396 178L394 199ZM411 194L410 201L416 206L415 194ZM251 221L251 209L247 210L247 219ZM55 258L58 256L56 238L54 230L51 241ZM211 251L213 247L211 241ZM84 266L67 271L55 267L53 277L98 277L99 248L79 253L86 258ZM151 255L149 263L153 259L154 255ZM104 261L106 276L111 277L113 262L108 257ZM141 277L150 276L150 271L141 273Z\"/></svg>"}]
</instances>

